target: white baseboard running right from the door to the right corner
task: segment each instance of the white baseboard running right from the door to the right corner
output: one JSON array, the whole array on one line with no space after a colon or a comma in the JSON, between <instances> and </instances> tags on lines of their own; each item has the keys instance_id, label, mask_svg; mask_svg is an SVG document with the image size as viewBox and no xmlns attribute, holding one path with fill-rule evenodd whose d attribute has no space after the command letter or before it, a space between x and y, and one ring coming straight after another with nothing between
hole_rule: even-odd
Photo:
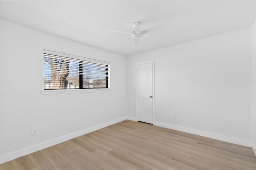
<instances>
[{"instance_id":1,"label":"white baseboard running right from the door to the right corner","mask_svg":"<svg viewBox=\"0 0 256 170\"><path fill-rule=\"evenodd\" d=\"M160 122L160 121L155 121L154 125L160 126L160 127L165 127L165 128L168 128L168 129L174 129L174 130L182 131L182 132L186 132L186 133L191 133L191 134L194 134L194 135L199 135L199 136L203 136L203 137L217 139L217 140L224 141L224 142L234 143L234 144L237 144L237 145L252 147L252 141L246 140L246 139L239 139L239 138L230 137L230 136L227 136L227 135L221 135L221 134L218 134L218 133L212 133L212 132L208 132L208 131L192 129L192 128L183 127L183 126L179 126L179 125L172 125L172 124L163 123L163 122ZM254 153L255 153L255 147L254 147Z\"/></svg>"}]
</instances>

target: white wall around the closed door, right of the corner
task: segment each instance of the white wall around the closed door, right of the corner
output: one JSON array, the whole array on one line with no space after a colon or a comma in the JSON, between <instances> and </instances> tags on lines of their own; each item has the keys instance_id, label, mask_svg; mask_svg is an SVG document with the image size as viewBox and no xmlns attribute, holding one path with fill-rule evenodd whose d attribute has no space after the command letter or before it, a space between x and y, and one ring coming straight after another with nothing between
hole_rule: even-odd
<instances>
[{"instance_id":1,"label":"white wall around the closed door, right of the corner","mask_svg":"<svg viewBox=\"0 0 256 170\"><path fill-rule=\"evenodd\" d=\"M251 37L248 28L128 56L128 116L135 64L154 60L155 125L251 146Z\"/></svg>"}]
</instances>

